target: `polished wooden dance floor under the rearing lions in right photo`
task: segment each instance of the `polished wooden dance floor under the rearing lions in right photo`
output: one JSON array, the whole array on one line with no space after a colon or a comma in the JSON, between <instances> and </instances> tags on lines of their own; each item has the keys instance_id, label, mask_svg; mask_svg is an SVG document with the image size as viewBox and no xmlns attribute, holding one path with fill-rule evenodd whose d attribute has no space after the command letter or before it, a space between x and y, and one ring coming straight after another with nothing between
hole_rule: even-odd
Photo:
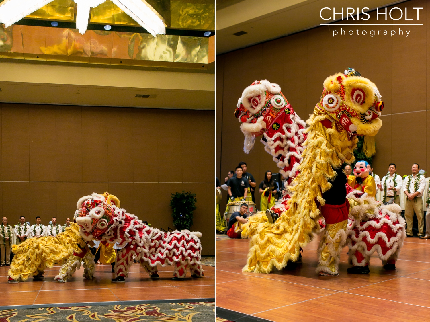
<instances>
[{"instance_id":1,"label":"polished wooden dance floor under the rearing lions in right photo","mask_svg":"<svg viewBox=\"0 0 430 322\"><path fill-rule=\"evenodd\" d=\"M220 318L238 322L430 319L430 240L406 238L395 271L384 270L373 257L370 274L363 275L347 273L350 265L344 248L338 277L315 273L317 241L304 249L303 264L297 267L271 274L243 273L248 243L246 239L216 242Z\"/></svg>"}]
</instances>

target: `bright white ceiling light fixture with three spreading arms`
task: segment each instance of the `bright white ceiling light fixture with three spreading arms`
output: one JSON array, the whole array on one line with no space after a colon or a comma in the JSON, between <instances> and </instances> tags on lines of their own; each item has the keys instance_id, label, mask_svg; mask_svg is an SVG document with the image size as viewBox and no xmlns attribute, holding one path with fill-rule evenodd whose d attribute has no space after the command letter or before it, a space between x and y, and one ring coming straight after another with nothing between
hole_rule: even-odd
<instances>
[{"instance_id":1,"label":"bright white ceiling light fixture with three spreading arms","mask_svg":"<svg viewBox=\"0 0 430 322\"><path fill-rule=\"evenodd\" d=\"M106 0L75 0L77 4L76 28L85 34L88 28L90 8L95 8ZM0 22L9 27L16 21L42 8L52 0L5 0L0 3ZM112 0L121 10L145 28L154 37L166 34L166 26L158 15L143 0Z\"/></svg>"}]
</instances>

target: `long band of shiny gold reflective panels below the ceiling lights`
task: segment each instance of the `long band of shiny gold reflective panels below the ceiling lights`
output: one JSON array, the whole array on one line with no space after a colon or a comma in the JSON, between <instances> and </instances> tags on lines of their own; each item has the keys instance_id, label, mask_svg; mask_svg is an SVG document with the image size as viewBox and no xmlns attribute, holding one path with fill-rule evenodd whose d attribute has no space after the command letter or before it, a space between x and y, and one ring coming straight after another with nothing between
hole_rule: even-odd
<instances>
[{"instance_id":1,"label":"long band of shiny gold reflective panels below the ceiling lights","mask_svg":"<svg viewBox=\"0 0 430 322\"><path fill-rule=\"evenodd\" d=\"M207 68L210 39L0 24L0 57L93 64ZM212 61L209 61L212 62Z\"/></svg>"}]
</instances>

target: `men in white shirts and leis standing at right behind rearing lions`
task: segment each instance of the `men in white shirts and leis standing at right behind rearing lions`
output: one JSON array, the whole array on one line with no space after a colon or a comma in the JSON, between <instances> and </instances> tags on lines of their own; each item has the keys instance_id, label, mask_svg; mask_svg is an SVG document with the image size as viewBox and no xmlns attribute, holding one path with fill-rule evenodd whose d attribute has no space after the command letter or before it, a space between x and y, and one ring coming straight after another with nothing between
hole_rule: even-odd
<instances>
[{"instance_id":1,"label":"men in white shirts and leis standing at right behind rearing lions","mask_svg":"<svg viewBox=\"0 0 430 322\"><path fill-rule=\"evenodd\" d=\"M347 165L344 168L344 172L347 176L351 175L351 166ZM394 203L400 205L400 196L402 193L405 194L405 220L407 224L406 237L413 237L412 224L414 212L418 219L418 237L422 239L430 238L430 211L426 213L426 233L424 235L424 204L421 198L426 193L425 186L426 181L424 175L420 173L420 165L414 163L411 169L412 174L404 176L397 174L397 167L395 163L390 163L388 166L387 175L382 180L378 175L373 173L371 169L370 175L375 179L375 186L369 184L364 188L364 192L369 194L375 194L378 190L383 192L382 202L388 202L391 198L394 199ZM365 182L363 182L366 185ZM429 207L430 191L427 194L427 204ZM430 210L430 209L429 209Z\"/></svg>"}]
</instances>

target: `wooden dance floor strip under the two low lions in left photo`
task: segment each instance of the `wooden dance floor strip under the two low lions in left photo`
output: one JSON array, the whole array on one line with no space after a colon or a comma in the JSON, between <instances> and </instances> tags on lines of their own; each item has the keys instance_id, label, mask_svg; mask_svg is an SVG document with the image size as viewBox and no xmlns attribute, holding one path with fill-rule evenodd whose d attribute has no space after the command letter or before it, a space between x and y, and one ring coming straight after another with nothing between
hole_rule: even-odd
<instances>
[{"instance_id":1,"label":"wooden dance floor strip under the two low lions in left photo","mask_svg":"<svg viewBox=\"0 0 430 322\"><path fill-rule=\"evenodd\" d=\"M59 267L45 271L45 279L9 284L6 281L9 267L0 267L0 309L22 305L46 307L47 304L70 306L147 303L151 301L175 301L190 299L200 302L213 301L215 295L215 267L203 265L205 276L191 278L190 272L184 281L171 281L173 267L159 267L159 280L152 280L140 264L133 264L125 283L114 283L111 265L96 264L96 279L83 279L83 268L77 270L64 284L54 282ZM66 305L67 304L67 305ZM57 305L58 306L58 305Z\"/></svg>"}]
</instances>

